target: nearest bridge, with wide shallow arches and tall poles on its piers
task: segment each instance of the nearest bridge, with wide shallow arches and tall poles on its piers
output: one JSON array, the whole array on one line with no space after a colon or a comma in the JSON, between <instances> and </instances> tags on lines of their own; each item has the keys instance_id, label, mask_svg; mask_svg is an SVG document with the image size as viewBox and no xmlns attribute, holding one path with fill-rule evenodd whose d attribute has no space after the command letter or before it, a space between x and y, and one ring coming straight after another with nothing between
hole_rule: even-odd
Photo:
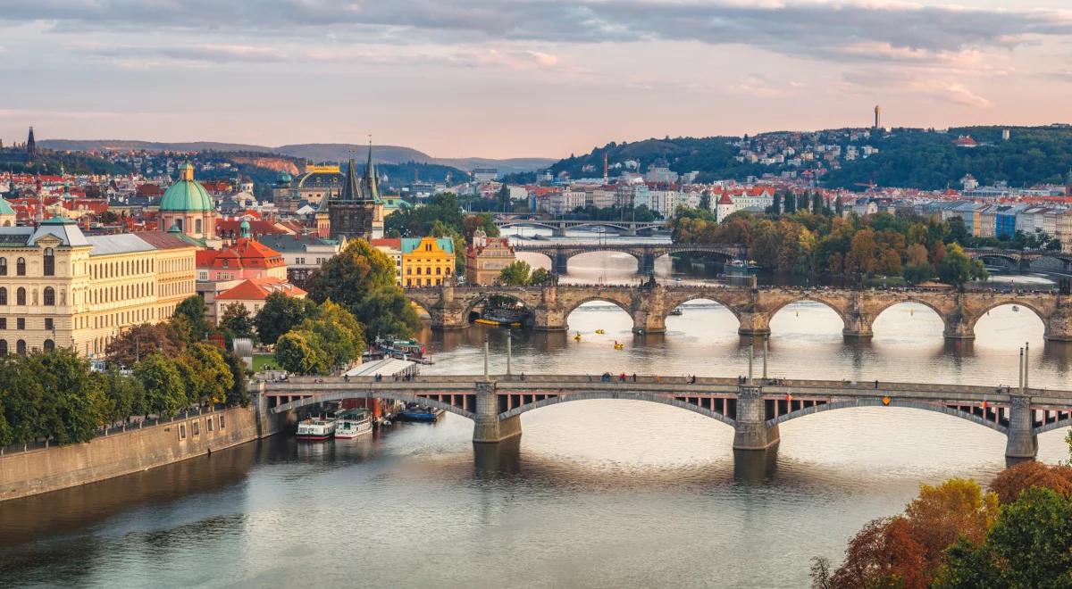
<instances>
[{"instance_id":1,"label":"nearest bridge, with wide shallow arches and tall poles on its piers","mask_svg":"<svg viewBox=\"0 0 1072 589\"><path fill-rule=\"evenodd\" d=\"M959 384L850 382L598 375L295 377L260 382L270 411L285 413L344 398L394 398L437 407L475 422L474 442L521 435L521 414L570 401L615 398L678 407L734 428L733 448L764 450L778 443L778 425L819 411L850 407L907 407L944 413L1007 436L1006 456L1031 458L1037 436L1072 425L1072 391Z\"/></svg>"}]
</instances>

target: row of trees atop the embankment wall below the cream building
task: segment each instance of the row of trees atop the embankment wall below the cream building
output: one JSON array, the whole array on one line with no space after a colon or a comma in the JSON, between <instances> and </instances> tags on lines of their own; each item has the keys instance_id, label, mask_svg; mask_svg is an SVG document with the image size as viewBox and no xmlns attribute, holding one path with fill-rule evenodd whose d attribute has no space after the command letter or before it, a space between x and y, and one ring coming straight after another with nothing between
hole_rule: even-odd
<instances>
[{"instance_id":1,"label":"row of trees atop the embankment wall below the cream building","mask_svg":"<svg viewBox=\"0 0 1072 589\"><path fill-rule=\"evenodd\" d=\"M92 439L134 416L169 418L193 406L247 405L241 359L202 339L199 297L166 322L134 326L109 343L109 369L64 348L0 359L0 447Z\"/></svg>"}]
</instances>

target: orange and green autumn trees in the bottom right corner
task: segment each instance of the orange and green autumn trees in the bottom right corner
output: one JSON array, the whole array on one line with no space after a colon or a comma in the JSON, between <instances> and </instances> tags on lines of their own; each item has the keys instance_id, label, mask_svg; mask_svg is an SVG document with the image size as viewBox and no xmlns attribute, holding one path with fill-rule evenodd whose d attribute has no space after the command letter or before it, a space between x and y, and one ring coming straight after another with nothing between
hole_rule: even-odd
<instances>
[{"instance_id":1,"label":"orange and green autumn trees in the bottom right corner","mask_svg":"<svg viewBox=\"0 0 1072 589\"><path fill-rule=\"evenodd\" d=\"M903 514L865 525L839 567L814 558L813 588L1072 587L1070 495L1072 466L1034 460L988 492L965 479L922 485Z\"/></svg>"}]
</instances>

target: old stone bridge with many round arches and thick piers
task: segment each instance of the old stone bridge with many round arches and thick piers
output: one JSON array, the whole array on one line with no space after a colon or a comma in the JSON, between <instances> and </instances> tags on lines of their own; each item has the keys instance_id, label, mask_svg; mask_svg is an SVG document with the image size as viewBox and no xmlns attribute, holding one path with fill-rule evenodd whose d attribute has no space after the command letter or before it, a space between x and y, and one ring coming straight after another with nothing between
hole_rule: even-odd
<instances>
[{"instance_id":1,"label":"old stone bridge with many round arches and thick piers","mask_svg":"<svg viewBox=\"0 0 1072 589\"><path fill-rule=\"evenodd\" d=\"M567 318L580 305L606 301L632 318L634 333L662 333L666 318L682 303L703 299L724 305L741 322L741 335L771 333L771 318L788 304L800 301L822 303L844 323L848 337L870 337L875 319L900 303L919 303L933 309L944 324L950 339L973 339L976 323L991 309L1018 305L1034 313L1045 326L1045 338L1072 342L1072 297L1058 292L936 291L922 289L850 290L840 288L754 288L733 286L567 286L549 284L533 287L456 287L408 289L406 297L428 311L433 329L463 329L470 314L492 296L509 297L531 313L533 329L564 331Z\"/></svg>"}]
</instances>

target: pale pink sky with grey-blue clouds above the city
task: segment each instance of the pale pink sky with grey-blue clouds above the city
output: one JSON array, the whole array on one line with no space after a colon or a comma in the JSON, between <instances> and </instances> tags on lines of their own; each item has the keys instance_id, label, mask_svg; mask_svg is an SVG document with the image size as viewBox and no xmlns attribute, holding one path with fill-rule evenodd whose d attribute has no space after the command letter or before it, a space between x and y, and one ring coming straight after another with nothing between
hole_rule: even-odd
<instances>
[{"instance_id":1,"label":"pale pink sky with grey-blue clouds above the city","mask_svg":"<svg viewBox=\"0 0 1072 589\"><path fill-rule=\"evenodd\" d=\"M2 0L0 138L438 157L1072 116L1068 0Z\"/></svg>"}]
</instances>

